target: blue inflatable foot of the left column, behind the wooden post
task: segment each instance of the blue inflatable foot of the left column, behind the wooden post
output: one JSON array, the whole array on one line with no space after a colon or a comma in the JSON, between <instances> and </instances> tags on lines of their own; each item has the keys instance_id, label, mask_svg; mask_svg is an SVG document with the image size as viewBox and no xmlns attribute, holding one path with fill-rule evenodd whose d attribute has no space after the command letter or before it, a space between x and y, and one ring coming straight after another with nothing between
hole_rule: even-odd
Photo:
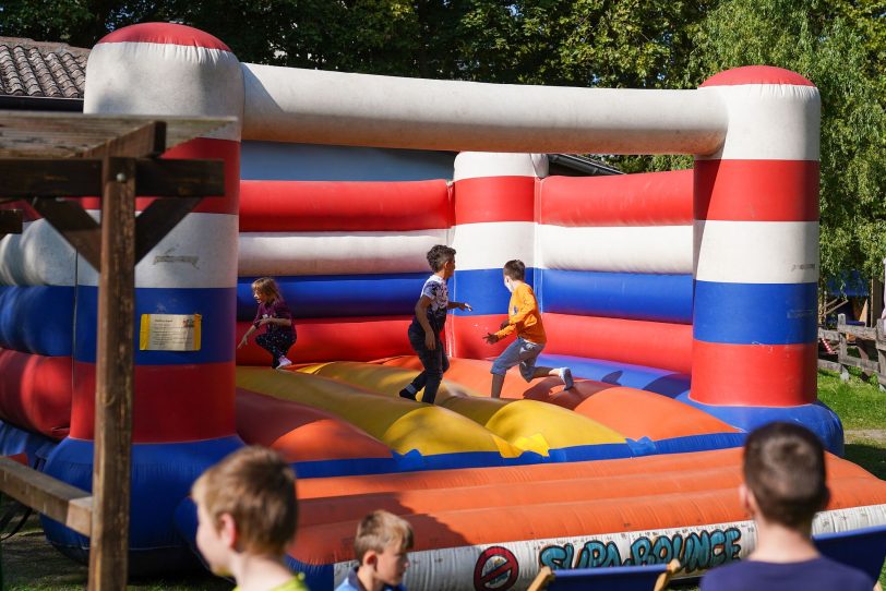
<instances>
[{"instance_id":1,"label":"blue inflatable foot of the left column, behind the wooden post","mask_svg":"<svg viewBox=\"0 0 886 591\"><path fill-rule=\"evenodd\" d=\"M175 528L176 507L209 466L243 446L236 436L201 442L133 444L129 571L139 577L195 566L195 556ZM45 472L92 491L93 442L63 439L49 455ZM41 516L46 536L62 554L88 563L89 540Z\"/></svg>"}]
</instances>

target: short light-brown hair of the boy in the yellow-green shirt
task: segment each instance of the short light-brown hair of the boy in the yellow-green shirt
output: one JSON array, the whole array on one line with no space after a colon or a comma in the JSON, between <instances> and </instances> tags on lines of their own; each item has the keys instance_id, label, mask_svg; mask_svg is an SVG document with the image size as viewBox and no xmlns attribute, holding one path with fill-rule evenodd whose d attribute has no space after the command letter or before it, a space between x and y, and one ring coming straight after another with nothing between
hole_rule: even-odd
<instances>
[{"instance_id":1,"label":"short light-brown hair of the boy in the yellow-green shirt","mask_svg":"<svg viewBox=\"0 0 886 591\"><path fill-rule=\"evenodd\" d=\"M206 470L191 495L216 530L223 515L234 518L244 552L283 556L296 535L296 474L272 449L238 449Z\"/></svg>"}]
</instances>

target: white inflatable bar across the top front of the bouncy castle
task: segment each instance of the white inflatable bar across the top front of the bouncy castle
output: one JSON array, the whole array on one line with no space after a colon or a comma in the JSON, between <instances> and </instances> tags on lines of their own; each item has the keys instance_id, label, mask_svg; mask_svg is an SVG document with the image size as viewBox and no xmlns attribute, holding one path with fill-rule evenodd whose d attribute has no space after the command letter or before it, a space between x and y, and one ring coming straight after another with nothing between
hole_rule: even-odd
<instances>
[{"instance_id":1,"label":"white inflatable bar across the top front of the bouncy castle","mask_svg":"<svg viewBox=\"0 0 886 591\"><path fill-rule=\"evenodd\" d=\"M243 63L243 140L475 152L713 154L716 93L517 86Z\"/></svg>"}]
</instances>

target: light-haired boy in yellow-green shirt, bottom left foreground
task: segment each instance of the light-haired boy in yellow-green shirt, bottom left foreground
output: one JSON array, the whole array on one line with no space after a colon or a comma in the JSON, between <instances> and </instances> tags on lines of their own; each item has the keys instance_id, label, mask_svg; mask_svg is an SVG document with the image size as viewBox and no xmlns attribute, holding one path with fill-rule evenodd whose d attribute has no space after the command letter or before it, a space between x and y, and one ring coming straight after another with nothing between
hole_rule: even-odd
<instances>
[{"instance_id":1,"label":"light-haired boy in yellow-green shirt, bottom left foreground","mask_svg":"<svg viewBox=\"0 0 886 591\"><path fill-rule=\"evenodd\" d=\"M271 449L244 447L194 482L196 545L215 575L235 591L307 591L284 564L296 535L296 474Z\"/></svg>"}]
</instances>

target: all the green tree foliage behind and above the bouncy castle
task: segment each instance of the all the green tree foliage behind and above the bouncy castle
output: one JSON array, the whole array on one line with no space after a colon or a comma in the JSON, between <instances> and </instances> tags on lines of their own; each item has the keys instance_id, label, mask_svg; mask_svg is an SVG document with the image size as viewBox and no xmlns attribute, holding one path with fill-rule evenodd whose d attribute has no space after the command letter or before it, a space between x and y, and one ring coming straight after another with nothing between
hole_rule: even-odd
<instances>
[{"instance_id":1,"label":"all the green tree foliage behind and above the bouncy castle","mask_svg":"<svg viewBox=\"0 0 886 591\"><path fill-rule=\"evenodd\" d=\"M886 0L8 0L0 35L92 47L172 21L242 60L479 82L694 88L747 64L822 94L822 270L886 256ZM627 172L686 156L603 156Z\"/></svg>"}]
</instances>

